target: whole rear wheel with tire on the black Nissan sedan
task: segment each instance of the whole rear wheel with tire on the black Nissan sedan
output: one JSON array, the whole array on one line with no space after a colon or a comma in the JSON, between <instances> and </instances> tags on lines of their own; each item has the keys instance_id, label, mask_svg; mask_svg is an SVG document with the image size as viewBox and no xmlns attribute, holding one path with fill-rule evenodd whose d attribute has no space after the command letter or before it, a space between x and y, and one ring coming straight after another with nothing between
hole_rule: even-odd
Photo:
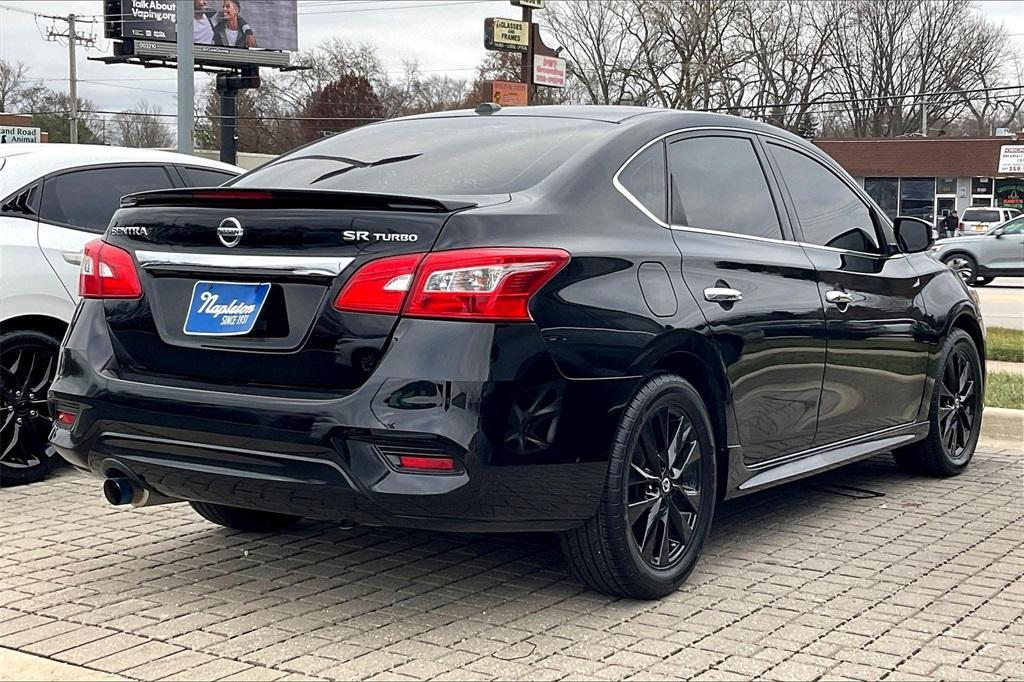
<instances>
[{"instance_id":1,"label":"whole rear wheel with tire on the black Nissan sedan","mask_svg":"<svg viewBox=\"0 0 1024 682\"><path fill-rule=\"evenodd\" d=\"M616 428L597 513L561 534L572 572L613 596L656 599L676 591L711 529L716 481L715 437L700 395L673 374L648 379Z\"/></svg>"}]
</instances>

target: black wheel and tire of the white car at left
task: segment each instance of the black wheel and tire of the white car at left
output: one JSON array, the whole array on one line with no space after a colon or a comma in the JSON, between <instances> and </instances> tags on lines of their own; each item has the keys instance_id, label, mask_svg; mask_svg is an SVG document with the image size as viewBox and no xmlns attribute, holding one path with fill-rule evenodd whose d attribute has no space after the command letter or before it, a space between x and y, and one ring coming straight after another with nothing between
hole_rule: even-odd
<instances>
[{"instance_id":1,"label":"black wheel and tire of the white car at left","mask_svg":"<svg viewBox=\"0 0 1024 682\"><path fill-rule=\"evenodd\" d=\"M62 462L49 444L46 393L60 342L40 332L0 335L0 485L42 480Z\"/></svg>"}]
</instances>

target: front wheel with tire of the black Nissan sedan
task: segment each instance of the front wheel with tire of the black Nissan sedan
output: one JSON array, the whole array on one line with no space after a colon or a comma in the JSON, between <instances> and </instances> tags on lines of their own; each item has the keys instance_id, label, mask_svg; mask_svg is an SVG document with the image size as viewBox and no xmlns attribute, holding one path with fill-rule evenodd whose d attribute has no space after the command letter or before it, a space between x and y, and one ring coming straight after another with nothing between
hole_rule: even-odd
<instances>
[{"instance_id":1,"label":"front wheel with tire of the black Nissan sedan","mask_svg":"<svg viewBox=\"0 0 1024 682\"><path fill-rule=\"evenodd\" d=\"M971 335L953 329L939 354L924 440L893 453L900 468L932 476L955 476L974 457L981 433L984 378Z\"/></svg>"}]
</instances>

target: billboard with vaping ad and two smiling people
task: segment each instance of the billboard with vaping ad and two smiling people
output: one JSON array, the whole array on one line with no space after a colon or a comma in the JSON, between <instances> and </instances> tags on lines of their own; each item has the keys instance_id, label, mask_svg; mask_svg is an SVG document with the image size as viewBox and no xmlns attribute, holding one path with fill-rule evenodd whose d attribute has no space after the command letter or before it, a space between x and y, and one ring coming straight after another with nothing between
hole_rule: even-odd
<instances>
[{"instance_id":1,"label":"billboard with vaping ad and two smiling people","mask_svg":"<svg viewBox=\"0 0 1024 682\"><path fill-rule=\"evenodd\" d=\"M193 0L196 60L275 63L298 49L297 0ZM177 41L175 0L108 0L106 37L135 41L138 54L171 54L160 43ZM138 47L143 49L139 50ZM129 45L126 45L129 47Z\"/></svg>"}]
</instances>

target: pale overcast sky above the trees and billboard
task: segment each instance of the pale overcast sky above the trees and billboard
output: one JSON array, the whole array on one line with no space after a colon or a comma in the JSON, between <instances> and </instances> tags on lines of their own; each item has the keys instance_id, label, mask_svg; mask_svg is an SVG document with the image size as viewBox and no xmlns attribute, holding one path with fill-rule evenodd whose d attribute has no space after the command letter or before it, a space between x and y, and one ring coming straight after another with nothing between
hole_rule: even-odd
<instances>
[{"instance_id":1,"label":"pale overcast sky above the trees and billboard","mask_svg":"<svg viewBox=\"0 0 1024 682\"><path fill-rule=\"evenodd\" d=\"M396 73L402 59L417 59L424 71L464 78L473 75L484 56L483 19L516 17L520 11L508 0L299 0L298 4L300 49L338 37L376 45L387 69ZM979 5L1024 46L1024 0L988 0ZM0 58L24 61L33 78L47 87L67 89L68 48L44 37L54 23L8 8L98 17L101 0L0 0ZM66 27L57 22L56 28ZM144 98L164 112L174 111L173 71L89 61L87 57L111 54L113 48L102 38L100 24L82 29L93 31L97 40L95 47L78 50L79 96L91 99L99 110L122 110ZM197 78L197 90L204 78Z\"/></svg>"}]
</instances>

